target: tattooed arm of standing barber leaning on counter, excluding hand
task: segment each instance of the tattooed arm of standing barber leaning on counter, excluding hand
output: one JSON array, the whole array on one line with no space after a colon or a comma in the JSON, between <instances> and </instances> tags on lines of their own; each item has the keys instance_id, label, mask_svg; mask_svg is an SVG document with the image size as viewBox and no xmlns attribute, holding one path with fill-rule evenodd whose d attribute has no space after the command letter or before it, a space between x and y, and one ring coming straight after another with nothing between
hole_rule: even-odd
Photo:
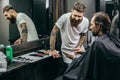
<instances>
[{"instance_id":1,"label":"tattooed arm of standing barber leaning on counter, excluding hand","mask_svg":"<svg viewBox=\"0 0 120 80\"><path fill-rule=\"evenodd\" d=\"M55 50L55 43L56 43L56 35L59 32L59 28L55 25L52 29L51 36L50 36L50 50Z\"/></svg>"}]
</instances>

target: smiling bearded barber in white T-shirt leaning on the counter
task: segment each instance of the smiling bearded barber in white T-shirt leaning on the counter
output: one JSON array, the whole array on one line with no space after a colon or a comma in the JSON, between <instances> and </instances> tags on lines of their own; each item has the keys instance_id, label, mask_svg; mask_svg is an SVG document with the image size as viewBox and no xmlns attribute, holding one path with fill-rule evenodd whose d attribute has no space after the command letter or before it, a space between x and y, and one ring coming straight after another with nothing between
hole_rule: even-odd
<instances>
[{"instance_id":1,"label":"smiling bearded barber in white T-shirt leaning on the counter","mask_svg":"<svg viewBox=\"0 0 120 80\"><path fill-rule=\"evenodd\" d=\"M56 34L61 33L61 51L65 63L71 63L72 59L85 52L83 43L88 30L89 21L84 17L86 6L81 2L75 2L70 13L63 14L55 23L51 32L50 49L53 57L59 54L55 51ZM78 53L79 51L79 53Z\"/></svg>"}]
</instances>

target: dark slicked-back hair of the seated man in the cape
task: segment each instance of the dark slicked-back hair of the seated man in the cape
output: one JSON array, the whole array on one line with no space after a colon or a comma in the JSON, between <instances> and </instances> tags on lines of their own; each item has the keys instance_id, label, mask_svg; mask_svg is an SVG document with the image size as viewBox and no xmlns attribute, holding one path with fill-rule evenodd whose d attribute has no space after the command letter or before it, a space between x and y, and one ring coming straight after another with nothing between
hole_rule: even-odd
<instances>
[{"instance_id":1,"label":"dark slicked-back hair of the seated man in the cape","mask_svg":"<svg viewBox=\"0 0 120 80\"><path fill-rule=\"evenodd\" d=\"M97 12L94 14L94 23L95 25L100 25L102 32L106 33L111 29L111 20L107 13Z\"/></svg>"}]
</instances>

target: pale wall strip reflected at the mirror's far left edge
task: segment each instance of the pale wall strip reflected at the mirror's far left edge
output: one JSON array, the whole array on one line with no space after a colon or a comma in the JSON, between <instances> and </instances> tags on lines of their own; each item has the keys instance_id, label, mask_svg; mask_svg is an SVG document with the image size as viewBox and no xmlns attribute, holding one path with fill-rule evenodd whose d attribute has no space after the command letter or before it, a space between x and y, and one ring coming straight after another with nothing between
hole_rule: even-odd
<instances>
[{"instance_id":1,"label":"pale wall strip reflected at the mirror's far left edge","mask_svg":"<svg viewBox=\"0 0 120 80\"><path fill-rule=\"evenodd\" d=\"M9 4L9 0L0 0L0 44L9 44L9 23L5 20L2 8Z\"/></svg>"}]
</instances>

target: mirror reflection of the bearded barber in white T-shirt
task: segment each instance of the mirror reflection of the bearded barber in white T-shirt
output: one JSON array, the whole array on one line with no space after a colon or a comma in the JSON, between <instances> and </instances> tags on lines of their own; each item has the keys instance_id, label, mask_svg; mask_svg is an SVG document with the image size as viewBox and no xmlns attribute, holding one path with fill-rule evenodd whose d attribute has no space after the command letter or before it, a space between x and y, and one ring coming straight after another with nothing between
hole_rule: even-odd
<instances>
[{"instance_id":1,"label":"mirror reflection of the bearded barber in white T-shirt","mask_svg":"<svg viewBox=\"0 0 120 80\"><path fill-rule=\"evenodd\" d=\"M3 8L3 14L10 24L17 24L20 38L14 42L15 45L38 39L35 25L26 14L17 13L11 5Z\"/></svg>"}]
</instances>

